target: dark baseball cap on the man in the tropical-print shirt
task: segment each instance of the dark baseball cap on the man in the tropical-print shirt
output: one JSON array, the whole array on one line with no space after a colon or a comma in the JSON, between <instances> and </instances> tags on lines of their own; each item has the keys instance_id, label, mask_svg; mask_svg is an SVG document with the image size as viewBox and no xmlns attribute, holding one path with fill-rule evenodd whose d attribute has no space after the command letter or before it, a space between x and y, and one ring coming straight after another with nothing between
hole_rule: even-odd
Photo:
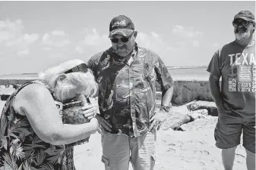
<instances>
[{"instance_id":1,"label":"dark baseball cap on the man in the tropical-print shirt","mask_svg":"<svg viewBox=\"0 0 256 170\"><path fill-rule=\"evenodd\" d=\"M119 15L114 17L109 24L109 37L113 35L131 36L134 32L134 23L129 17Z\"/></svg>"}]
</instances>

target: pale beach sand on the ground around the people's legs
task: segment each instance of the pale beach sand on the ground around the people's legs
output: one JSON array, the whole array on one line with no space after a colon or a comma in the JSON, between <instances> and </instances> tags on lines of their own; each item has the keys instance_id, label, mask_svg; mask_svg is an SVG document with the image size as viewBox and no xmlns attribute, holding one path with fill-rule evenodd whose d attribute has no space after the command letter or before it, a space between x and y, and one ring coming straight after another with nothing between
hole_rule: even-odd
<instances>
[{"instance_id":1,"label":"pale beach sand on the ground around the people's legs","mask_svg":"<svg viewBox=\"0 0 256 170\"><path fill-rule=\"evenodd\" d=\"M0 101L2 110L4 102ZM181 108L182 109L182 108ZM179 110L176 107L175 110ZM213 131L217 117L207 116L182 125L185 131L157 131L156 170L222 170L221 150L215 147ZM101 162L100 134L91 135L90 142L74 147L77 170L104 169ZM131 165L129 170L131 170ZM246 169L245 149L239 145L233 170Z\"/></svg>"}]
</instances>

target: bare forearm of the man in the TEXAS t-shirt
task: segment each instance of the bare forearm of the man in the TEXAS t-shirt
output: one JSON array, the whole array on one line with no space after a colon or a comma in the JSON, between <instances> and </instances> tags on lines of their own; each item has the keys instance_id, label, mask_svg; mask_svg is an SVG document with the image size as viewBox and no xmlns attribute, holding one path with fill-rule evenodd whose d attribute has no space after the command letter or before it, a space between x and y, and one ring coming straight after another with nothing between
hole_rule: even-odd
<instances>
[{"instance_id":1,"label":"bare forearm of the man in the TEXAS t-shirt","mask_svg":"<svg viewBox=\"0 0 256 170\"><path fill-rule=\"evenodd\" d=\"M223 98L220 92L220 77L213 76L212 73L210 73L209 77L209 86L210 86L210 94L213 97L213 100L216 104L217 108L223 108Z\"/></svg>"}]
</instances>

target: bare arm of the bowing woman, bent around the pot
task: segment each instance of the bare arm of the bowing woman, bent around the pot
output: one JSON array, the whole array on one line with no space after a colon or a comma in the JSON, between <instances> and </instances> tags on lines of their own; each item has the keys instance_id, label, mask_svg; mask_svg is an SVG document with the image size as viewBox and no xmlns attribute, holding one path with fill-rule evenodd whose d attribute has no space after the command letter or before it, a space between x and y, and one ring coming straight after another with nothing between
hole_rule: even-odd
<instances>
[{"instance_id":1,"label":"bare arm of the bowing woman, bent around the pot","mask_svg":"<svg viewBox=\"0 0 256 170\"><path fill-rule=\"evenodd\" d=\"M49 144L71 144L87 138L98 128L96 119L81 125L63 124L52 95L43 85L24 87L17 94L15 105L27 116L37 136Z\"/></svg>"}]
</instances>

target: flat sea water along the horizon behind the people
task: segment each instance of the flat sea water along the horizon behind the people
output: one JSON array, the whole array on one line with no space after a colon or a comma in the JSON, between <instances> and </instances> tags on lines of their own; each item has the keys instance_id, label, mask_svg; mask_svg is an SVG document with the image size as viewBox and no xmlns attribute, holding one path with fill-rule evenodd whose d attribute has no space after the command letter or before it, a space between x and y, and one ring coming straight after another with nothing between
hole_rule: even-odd
<instances>
[{"instance_id":1,"label":"flat sea water along the horizon behind the people","mask_svg":"<svg viewBox=\"0 0 256 170\"><path fill-rule=\"evenodd\" d=\"M171 68L168 67L169 73L173 79L176 80L207 80L209 73L206 71L207 68ZM24 73L24 74L10 74L0 75L0 79L36 79L36 73Z\"/></svg>"}]
</instances>

